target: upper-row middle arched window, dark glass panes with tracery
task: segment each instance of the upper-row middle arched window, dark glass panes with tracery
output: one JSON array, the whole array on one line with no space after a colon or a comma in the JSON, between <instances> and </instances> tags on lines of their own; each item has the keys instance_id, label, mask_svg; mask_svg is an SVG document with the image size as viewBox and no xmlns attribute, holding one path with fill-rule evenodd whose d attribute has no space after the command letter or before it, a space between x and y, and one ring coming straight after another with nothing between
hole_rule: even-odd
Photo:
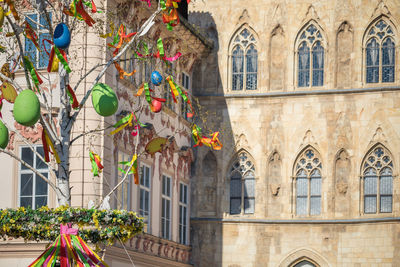
<instances>
[{"instance_id":1,"label":"upper-row middle arched window, dark glass panes with tracery","mask_svg":"<svg viewBox=\"0 0 400 267\"><path fill-rule=\"evenodd\" d=\"M298 87L324 85L324 46L321 32L314 24L300 34L297 46Z\"/></svg>"}]
</instances>

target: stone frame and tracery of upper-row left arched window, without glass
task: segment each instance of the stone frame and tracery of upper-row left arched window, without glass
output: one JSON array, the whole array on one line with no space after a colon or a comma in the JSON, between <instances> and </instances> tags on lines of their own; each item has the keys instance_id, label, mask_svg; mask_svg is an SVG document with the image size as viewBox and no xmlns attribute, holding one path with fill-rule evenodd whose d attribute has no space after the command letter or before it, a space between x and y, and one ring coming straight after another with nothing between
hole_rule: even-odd
<instances>
[{"instance_id":1,"label":"stone frame and tracery of upper-row left arched window, without glass","mask_svg":"<svg viewBox=\"0 0 400 267\"><path fill-rule=\"evenodd\" d=\"M247 30L249 31L250 36L253 37L253 39L249 39L248 43L246 44L246 46L244 47L242 44L239 44L240 42L235 40L240 36L240 33L242 33L242 31ZM260 78L260 50L259 50L259 38L258 38L258 34L253 30L252 27L250 27L247 23L243 24L242 26L240 26L235 32L234 34L232 34L232 38L229 44L229 48L228 48L228 90L231 93L250 93L250 92L258 92L260 91L260 84L261 84L261 80ZM246 59L246 54L247 51L249 50L249 48L251 46L255 47L255 50L257 52L257 72L256 72L256 88L255 89L246 89L246 78L247 78L247 69L246 69L246 63L247 63L247 59ZM237 90L233 90L233 50L237 47L241 47L242 51L243 51L243 84L242 84L242 88L241 89L237 89Z\"/></svg>"}]
</instances>

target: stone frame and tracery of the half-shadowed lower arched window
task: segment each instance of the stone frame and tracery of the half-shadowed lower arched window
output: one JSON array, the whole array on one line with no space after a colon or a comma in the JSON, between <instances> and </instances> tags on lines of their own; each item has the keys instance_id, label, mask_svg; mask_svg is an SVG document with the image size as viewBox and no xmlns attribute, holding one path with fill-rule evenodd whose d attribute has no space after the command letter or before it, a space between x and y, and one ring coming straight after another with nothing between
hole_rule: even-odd
<instances>
[{"instance_id":1,"label":"stone frame and tracery of the half-shadowed lower arched window","mask_svg":"<svg viewBox=\"0 0 400 267\"><path fill-rule=\"evenodd\" d=\"M240 162L241 159L240 157L242 155L246 156L246 159L243 161L243 164L239 163L238 166L235 167L235 163ZM244 166L245 169L242 169L242 165L246 164L247 162L251 162L250 165L247 165L247 167ZM232 204L232 199L237 199L238 197L234 196L232 197L231 195L231 181L232 181L232 174L234 172L240 172L240 178L237 178L237 180L240 180L240 187L241 187L241 194L240 194L240 212L239 213L232 213L231 212L231 204ZM253 177L246 177L246 174L248 174L249 172L253 172ZM253 215L255 214L255 204L256 204L256 167L254 164L254 159L253 157L250 155L250 153L248 153L246 150L242 149L239 152L237 152L232 160L231 163L229 164L229 169L228 169L228 174L227 174L227 178L229 181L229 214L230 215ZM254 184L253 184L253 197L252 196L248 196L247 198L245 197L245 181L246 180L254 180ZM245 206L244 206L244 202L245 199L253 199L254 200L254 210L253 212L245 212Z\"/></svg>"}]
</instances>

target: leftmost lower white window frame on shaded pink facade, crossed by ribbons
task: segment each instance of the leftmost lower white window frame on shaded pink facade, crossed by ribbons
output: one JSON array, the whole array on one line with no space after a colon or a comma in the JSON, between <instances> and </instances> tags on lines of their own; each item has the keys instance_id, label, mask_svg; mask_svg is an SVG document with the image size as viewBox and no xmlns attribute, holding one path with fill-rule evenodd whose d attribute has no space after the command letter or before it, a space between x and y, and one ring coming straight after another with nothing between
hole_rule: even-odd
<instances>
[{"instance_id":1,"label":"leftmost lower white window frame on shaded pink facade, crossed by ribbons","mask_svg":"<svg viewBox=\"0 0 400 267\"><path fill-rule=\"evenodd\" d=\"M121 161L130 161L131 157L122 152L118 151L118 162ZM125 169L124 166L120 166L120 168ZM118 168L116 169L116 184L121 182L121 180L124 178L125 173L120 171ZM126 203L124 203L124 196L125 196L125 189L126 190ZM121 193L121 195L120 195ZM116 209L121 209L121 210L132 210L132 174L128 174L127 179L118 187L117 189L117 194L116 194Z\"/></svg>"}]
</instances>

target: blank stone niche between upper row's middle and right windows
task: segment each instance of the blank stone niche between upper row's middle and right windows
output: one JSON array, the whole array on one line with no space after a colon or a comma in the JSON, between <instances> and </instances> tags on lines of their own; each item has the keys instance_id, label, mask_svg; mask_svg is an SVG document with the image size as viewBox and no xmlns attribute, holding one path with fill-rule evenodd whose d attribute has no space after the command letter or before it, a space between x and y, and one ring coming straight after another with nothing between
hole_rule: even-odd
<instances>
[{"instance_id":1,"label":"blank stone niche between upper row's middle and right windows","mask_svg":"<svg viewBox=\"0 0 400 267\"><path fill-rule=\"evenodd\" d=\"M343 21L336 33L336 75L335 86L349 88L352 82L351 53L354 49L353 27Z\"/></svg>"}]
</instances>

